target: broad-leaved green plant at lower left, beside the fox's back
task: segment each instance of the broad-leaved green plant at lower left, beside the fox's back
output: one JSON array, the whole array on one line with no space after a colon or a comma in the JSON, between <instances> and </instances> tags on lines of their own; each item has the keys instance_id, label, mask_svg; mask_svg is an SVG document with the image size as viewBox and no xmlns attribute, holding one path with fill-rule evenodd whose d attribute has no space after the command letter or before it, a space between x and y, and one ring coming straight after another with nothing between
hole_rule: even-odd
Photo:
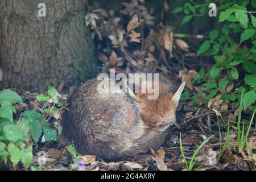
<instances>
[{"instance_id":1,"label":"broad-leaved green plant at lower left, beside the fox's back","mask_svg":"<svg viewBox=\"0 0 256 182\"><path fill-rule=\"evenodd\" d=\"M37 97L39 101L48 102L49 105L43 110L43 114L35 110L23 111L18 121L13 117L16 113L15 103L22 102L22 98L12 90L0 91L0 167L15 167L21 162L25 169L32 163L32 144L38 143L43 135L46 141L57 139L57 132L50 127L49 119L57 111L56 105L60 106L59 93L49 86L48 94L41 94ZM53 103L53 104L51 104ZM61 132L61 127L55 125Z\"/></svg>"}]
</instances>

